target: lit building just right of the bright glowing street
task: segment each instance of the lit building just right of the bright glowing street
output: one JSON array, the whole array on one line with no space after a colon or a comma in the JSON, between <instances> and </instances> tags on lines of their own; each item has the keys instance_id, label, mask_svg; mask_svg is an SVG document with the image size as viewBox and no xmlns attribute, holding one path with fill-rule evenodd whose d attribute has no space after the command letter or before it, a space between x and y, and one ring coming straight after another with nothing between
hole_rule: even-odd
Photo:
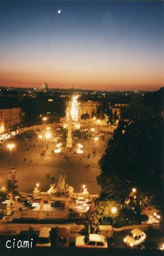
<instances>
[{"instance_id":1,"label":"lit building just right of the bright glowing street","mask_svg":"<svg viewBox=\"0 0 164 256\"><path fill-rule=\"evenodd\" d=\"M80 102L80 115L81 114L89 114L90 118L93 117L96 112L97 108L102 106L101 102L98 101L81 101Z\"/></svg>"}]
</instances>

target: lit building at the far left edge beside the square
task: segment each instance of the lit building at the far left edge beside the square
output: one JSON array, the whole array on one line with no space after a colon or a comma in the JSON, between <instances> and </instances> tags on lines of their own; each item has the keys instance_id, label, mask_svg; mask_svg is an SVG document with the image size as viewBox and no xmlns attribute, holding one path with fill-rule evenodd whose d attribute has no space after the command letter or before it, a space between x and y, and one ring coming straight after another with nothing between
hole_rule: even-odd
<instances>
[{"instance_id":1,"label":"lit building at the far left edge beside the square","mask_svg":"<svg viewBox=\"0 0 164 256\"><path fill-rule=\"evenodd\" d=\"M21 108L0 109L0 133L19 125L24 112Z\"/></svg>"}]
</instances>

